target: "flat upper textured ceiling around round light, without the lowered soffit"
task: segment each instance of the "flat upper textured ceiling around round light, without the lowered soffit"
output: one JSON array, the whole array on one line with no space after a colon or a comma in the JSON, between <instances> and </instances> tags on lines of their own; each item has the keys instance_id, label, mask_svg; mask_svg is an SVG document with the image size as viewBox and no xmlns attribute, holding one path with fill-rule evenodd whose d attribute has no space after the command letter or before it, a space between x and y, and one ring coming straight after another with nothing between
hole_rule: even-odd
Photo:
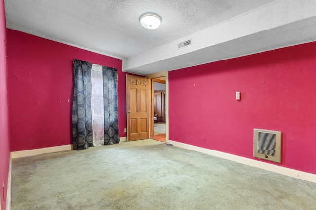
<instances>
[{"instance_id":1,"label":"flat upper textured ceiling around round light, without the lowered soffit","mask_svg":"<svg viewBox=\"0 0 316 210\"><path fill-rule=\"evenodd\" d=\"M7 28L129 58L273 0L5 0ZM139 16L162 17L156 30Z\"/></svg>"}]
</instances>

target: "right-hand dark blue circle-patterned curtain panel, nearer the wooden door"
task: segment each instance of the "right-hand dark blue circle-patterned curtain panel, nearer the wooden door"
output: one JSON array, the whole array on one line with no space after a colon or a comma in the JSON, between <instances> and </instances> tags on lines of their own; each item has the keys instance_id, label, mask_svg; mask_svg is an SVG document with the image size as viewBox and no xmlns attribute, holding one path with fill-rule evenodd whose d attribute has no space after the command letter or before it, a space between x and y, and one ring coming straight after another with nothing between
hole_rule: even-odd
<instances>
[{"instance_id":1,"label":"right-hand dark blue circle-patterned curtain panel, nearer the wooden door","mask_svg":"<svg viewBox=\"0 0 316 210\"><path fill-rule=\"evenodd\" d=\"M118 70L103 66L104 144L119 142L118 134Z\"/></svg>"}]
</instances>

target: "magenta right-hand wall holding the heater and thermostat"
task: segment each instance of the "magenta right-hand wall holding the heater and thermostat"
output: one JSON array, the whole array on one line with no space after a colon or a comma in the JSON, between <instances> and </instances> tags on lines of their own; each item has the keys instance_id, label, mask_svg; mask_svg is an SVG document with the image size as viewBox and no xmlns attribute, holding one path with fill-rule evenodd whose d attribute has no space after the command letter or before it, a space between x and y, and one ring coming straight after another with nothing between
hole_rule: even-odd
<instances>
[{"instance_id":1,"label":"magenta right-hand wall holding the heater and thermostat","mask_svg":"<svg viewBox=\"0 0 316 210\"><path fill-rule=\"evenodd\" d=\"M169 109L170 140L255 159L253 129L282 131L267 162L316 174L316 42L171 71Z\"/></svg>"}]
</instances>

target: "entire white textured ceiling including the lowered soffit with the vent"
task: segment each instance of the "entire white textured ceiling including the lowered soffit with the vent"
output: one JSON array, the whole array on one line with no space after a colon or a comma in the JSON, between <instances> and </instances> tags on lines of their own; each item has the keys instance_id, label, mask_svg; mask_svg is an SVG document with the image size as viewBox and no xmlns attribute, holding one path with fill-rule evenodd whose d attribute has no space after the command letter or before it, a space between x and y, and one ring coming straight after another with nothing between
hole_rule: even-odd
<instances>
[{"instance_id":1,"label":"entire white textured ceiling including the lowered soffit with the vent","mask_svg":"<svg viewBox=\"0 0 316 210\"><path fill-rule=\"evenodd\" d=\"M150 74L316 40L315 0L5 0L7 28ZM155 12L158 29L139 16ZM177 49L192 39L192 46Z\"/></svg>"}]
</instances>

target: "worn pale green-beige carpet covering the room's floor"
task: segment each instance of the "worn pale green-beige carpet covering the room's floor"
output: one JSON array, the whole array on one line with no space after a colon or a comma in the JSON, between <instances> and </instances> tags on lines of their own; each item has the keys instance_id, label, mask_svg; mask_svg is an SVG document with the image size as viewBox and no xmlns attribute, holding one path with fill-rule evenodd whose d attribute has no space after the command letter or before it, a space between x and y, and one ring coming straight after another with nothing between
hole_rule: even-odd
<instances>
[{"instance_id":1,"label":"worn pale green-beige carpet covering the room's floor","mask_svg":"<svg viewBox=\"0 0 316 210\"><path fill-rule=\"evenodd\" d=\"M316 183L154 140L12 160L12 210L314 210Z\"/></svg>"}]
</instances>

